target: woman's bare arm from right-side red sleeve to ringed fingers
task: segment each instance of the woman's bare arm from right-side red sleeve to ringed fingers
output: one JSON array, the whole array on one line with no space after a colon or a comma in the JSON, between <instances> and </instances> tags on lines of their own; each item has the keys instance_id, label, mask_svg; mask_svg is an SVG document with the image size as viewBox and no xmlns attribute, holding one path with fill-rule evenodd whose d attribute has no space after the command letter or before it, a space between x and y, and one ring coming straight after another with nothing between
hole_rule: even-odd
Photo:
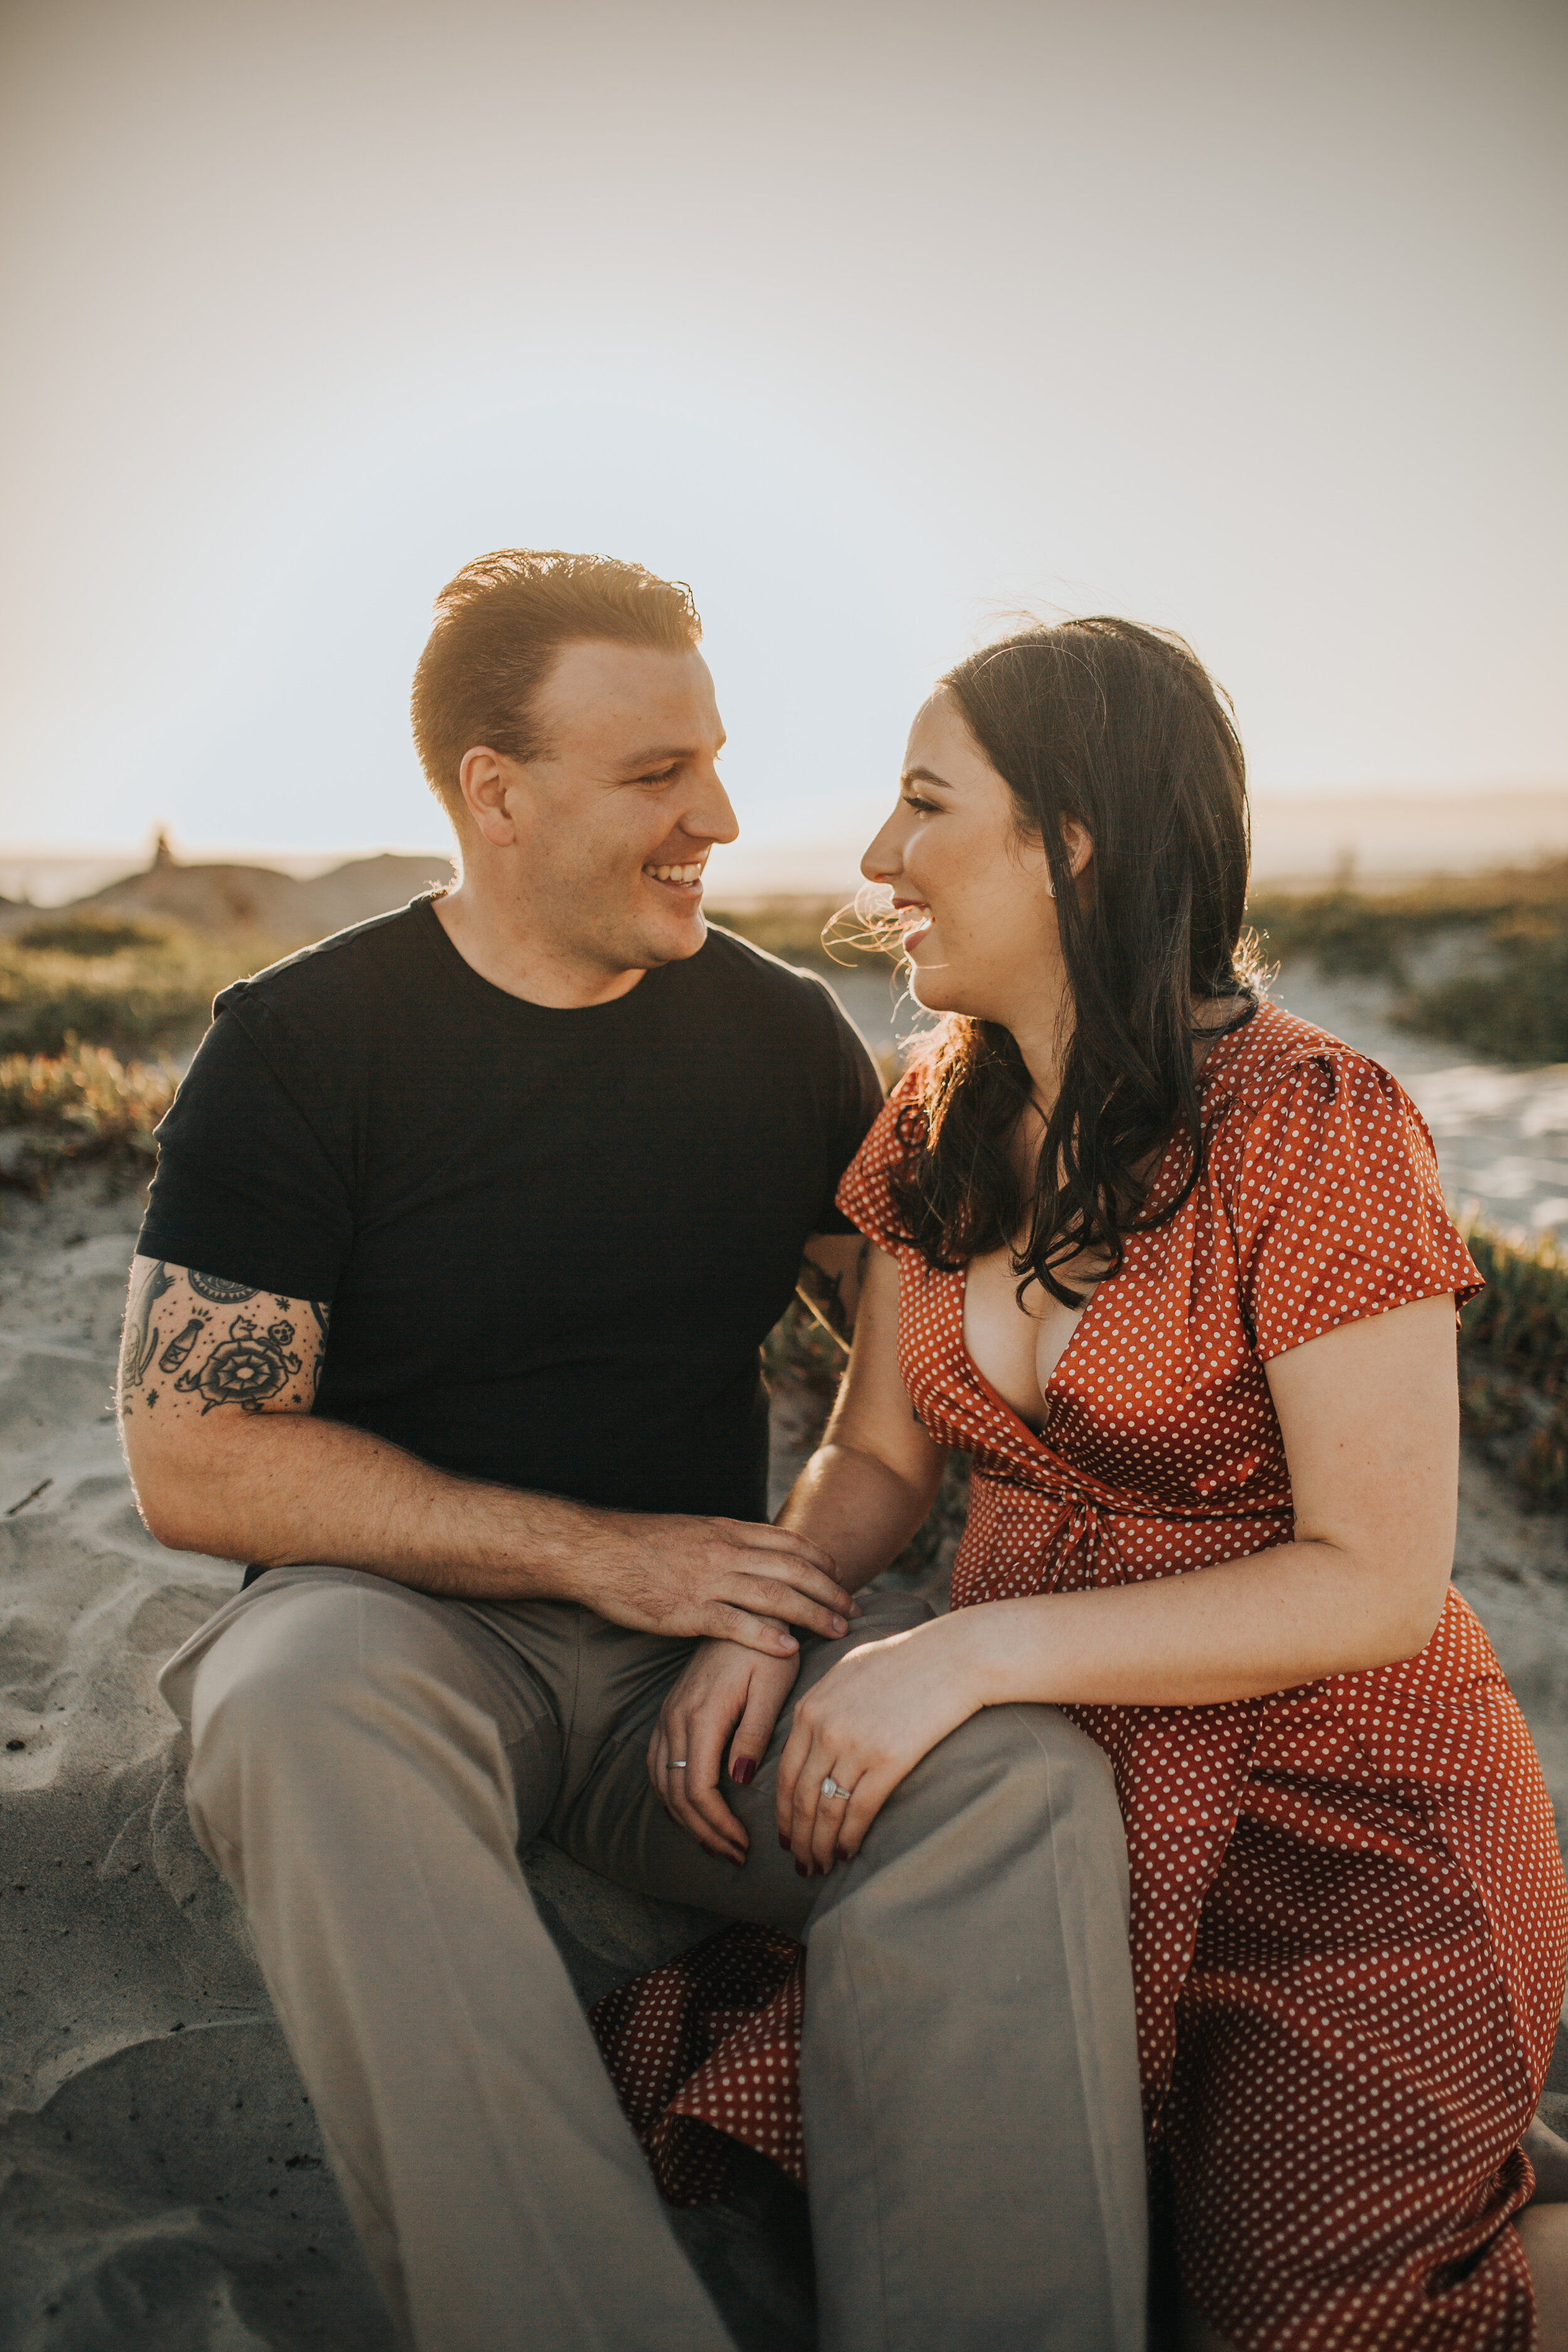
<instances>
[{"instance_id":1,"label":"woman's bare arm from right-side red sleeve to ringed fingers","mask_svg":"<svg viewBox=\"0 0 1568 2352\"><path fill-rule=\"evenodd\" d=\"M1458 1512L1453 1296L1307 1341L1267 1381L1295 1541L1140 1585L959 1609L849 1653L797 1708L780 1764L778 1828L797 1860L825 1870L835 1846L858 1851L889 1792L976 1708L1201 1708L1427 1644ZM825 1773L853 1788L846 1809L820 1804Z\"/></svg>"}]
</instances>

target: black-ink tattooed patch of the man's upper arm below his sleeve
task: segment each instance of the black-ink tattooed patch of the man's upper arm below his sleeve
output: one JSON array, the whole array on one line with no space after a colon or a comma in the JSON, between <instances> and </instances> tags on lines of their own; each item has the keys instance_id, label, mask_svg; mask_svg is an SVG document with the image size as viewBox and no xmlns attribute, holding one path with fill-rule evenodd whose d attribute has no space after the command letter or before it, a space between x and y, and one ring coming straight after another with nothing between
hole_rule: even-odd
<instances>
[{"instance_id":1,"label":"black-ink tattooed patch of the man's upper arm below his sleeve","mask_svg":"<svg viewBox=\"0 0 1568 2352\"><path fill-rule=\"evenodd\" d=\"M235 1312L237 1310L237 1312ZM202 1416L310 1411L327 1352L327 1301L263 1298L244 1282L136 1258L120 1350L120 1411ZM153 1364L167 1385L150 1385Z\"/></svg>"}]
</instances>

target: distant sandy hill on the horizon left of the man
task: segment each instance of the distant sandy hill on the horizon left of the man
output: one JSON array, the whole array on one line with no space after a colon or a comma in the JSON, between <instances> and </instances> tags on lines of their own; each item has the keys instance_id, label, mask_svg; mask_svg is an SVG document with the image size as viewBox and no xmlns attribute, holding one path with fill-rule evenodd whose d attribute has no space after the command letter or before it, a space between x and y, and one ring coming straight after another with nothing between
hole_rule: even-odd
<instances>
[{"instance_id":1,"label":"distant sandy hill on the horizon left of the man","mask_svg":"<svg viewBox=\"0 0 1568 2352\"><path fill-rule=\"evenodd\" d=\"M193 931L254 931L280 948L303 948L313 938L346 931L353 922L388 915L425 889L451 882L451 861L430 856L353 858L331 873L299 882L270 866L176 866L160 861L146 873L108 882L71 913L162 915ZM68 913L54 908L54 915ZM0 931L38 922L35 906L0 901Z\"/></svg>"}]
</instances>

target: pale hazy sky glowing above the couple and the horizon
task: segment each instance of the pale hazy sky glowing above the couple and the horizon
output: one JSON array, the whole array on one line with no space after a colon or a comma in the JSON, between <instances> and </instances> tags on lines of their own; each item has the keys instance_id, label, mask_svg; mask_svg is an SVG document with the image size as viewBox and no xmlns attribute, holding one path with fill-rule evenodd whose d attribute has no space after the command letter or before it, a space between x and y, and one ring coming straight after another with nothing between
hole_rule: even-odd
<instances>
[{"instance_id":1,"label":"pale hazy sky glowing above the couple and the horizon","mask_svg":"<svg viewBox=\"0 0 1568 2352\"><path fill-rule=\"evenodd\" d=\"M430 600L689 579L752 847L1018 607L1568 783L1568 12L12 0L0 844L433 844Z\"/></svg>"}]
</instances>

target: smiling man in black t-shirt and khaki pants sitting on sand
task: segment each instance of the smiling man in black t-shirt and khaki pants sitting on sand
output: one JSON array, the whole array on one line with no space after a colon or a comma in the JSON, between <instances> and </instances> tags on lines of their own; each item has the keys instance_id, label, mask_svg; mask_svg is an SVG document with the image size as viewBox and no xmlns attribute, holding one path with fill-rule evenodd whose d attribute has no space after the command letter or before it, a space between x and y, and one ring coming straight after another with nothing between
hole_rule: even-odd
<instances>
[{"instance_id":1,"label":"smiling man in black t-shirt and khaki pants sitting on sand","mask_svg":"<svg viewBox=\"0 0 1568 2352\"><path fill-rule=\"evenodd\" d=\"M1023 1710L954 1733L969 1769L940 1797L914 1776L820 1889L771 1835L788 1710L729 1856L649 1788L698 1637L797 1658L799 1693L835 1644L912 1623L860 1618L809 1534L764 1524L757 1345L802 1249L853 1287L832 1195L879 1087L820 983L705 931L736 818L689 593L604 557L470 564L414 734L463 880L219 997L160 1129L122 1355L148 1526L252 1562L162 1686L393 2314L421 2352L726 2340L531 1907L517 1856L545 1835L797 1936L832 1915L870 1955L853 1999L813 1980L806 2025L827 2345L961 2352L973 2265L1039 2213L1034 2185L1020 2206L931 2173L933 2133L994 2098L1051 2110L1091 2312L1060 2343L1131 2345L1138 2225L1093 2098L1001 2046L1006 2089L969 2079L1018 1999L1063 1997L992 1985L985 1903L945 1905L987 1837L994 1900L1072 1945L1058 1976L1121 1936L1077 1893L1056 1919L1065 1797L1009 1733ZM1105 1788L1072 1804L1105 1830ZM914 1950L952 1983L950 2049L900 2011ZM905 2027L933 2044L914 2072ZM1020 2326L1020 2352L1058 2340Z\"/></svg>"}]
</instances>

